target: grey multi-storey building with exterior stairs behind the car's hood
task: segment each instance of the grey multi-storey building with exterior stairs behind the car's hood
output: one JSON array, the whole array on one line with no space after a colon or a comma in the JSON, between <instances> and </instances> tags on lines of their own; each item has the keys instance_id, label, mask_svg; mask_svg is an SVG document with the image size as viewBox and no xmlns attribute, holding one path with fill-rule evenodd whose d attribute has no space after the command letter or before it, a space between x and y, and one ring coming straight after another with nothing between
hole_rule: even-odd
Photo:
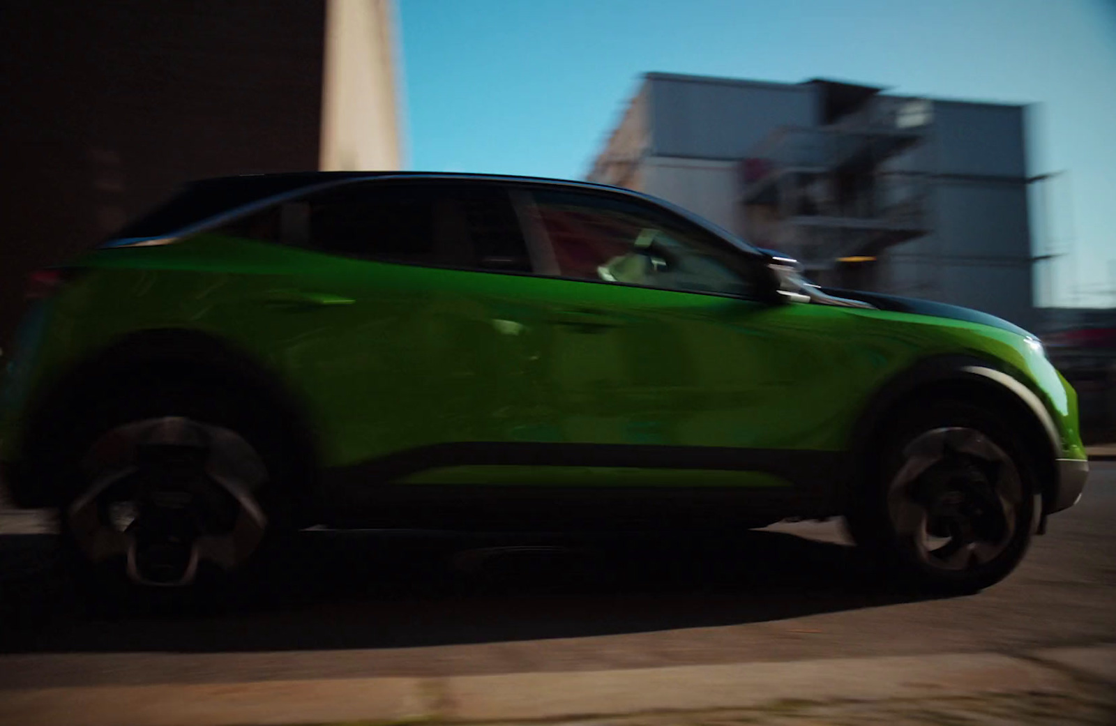
<instances>
[{"instance_id":1,"label":"grey multi-storey building with exterior stairs behind the car's hood","mask_svg":"<svg viewBox=\"0 0 1116 726\"><path fill-rule=\"evenodd\" d=\"M661 196L810 277L1036 321L1026 107L648 74L588 178Z\"/></svg>"}]
</instances>

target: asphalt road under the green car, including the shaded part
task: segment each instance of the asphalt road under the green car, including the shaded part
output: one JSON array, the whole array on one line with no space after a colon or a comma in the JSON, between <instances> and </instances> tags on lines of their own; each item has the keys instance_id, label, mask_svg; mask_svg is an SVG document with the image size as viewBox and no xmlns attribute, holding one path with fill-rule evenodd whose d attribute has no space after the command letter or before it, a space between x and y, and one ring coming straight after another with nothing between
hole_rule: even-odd
<instances>
[{"instance_id":1,"label":"asphalt road under the green car, including the shaded part","mask_svg":"<svg viewBox=\"0 0 1116 726\"><path fill-rule=\"evenodd\" d=\"M307 532L250 588L109 604L58 565L51 535L16 533L42 531L40 519L0 511L0 688L1114 642L1113 522L1116 464L1095 464L1083 502L1050 520L1019 570L946 599L887 588L836 524L802 523L732 542Z\"/></svg>"}]
</instances>

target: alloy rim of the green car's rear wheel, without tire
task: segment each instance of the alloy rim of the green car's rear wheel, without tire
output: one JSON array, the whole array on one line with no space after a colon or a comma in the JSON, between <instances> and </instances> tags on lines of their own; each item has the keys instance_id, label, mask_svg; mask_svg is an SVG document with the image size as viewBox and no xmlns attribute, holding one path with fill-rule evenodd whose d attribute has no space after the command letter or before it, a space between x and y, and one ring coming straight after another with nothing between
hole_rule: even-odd
<instances>
[{"instance_id":1,"label":"alloy rim of the green car's rear wheel, without tire","mask_svg":"<svg viewBox=\"0 0 1116 726\"><path fill-rule=\"evenodd\" d=\"M267 530L256 500L267 470L228 428L133 422L100 436L81 468L92 484L65 512L69 531L95 563L123 555L141 584L190 584L205 561L232 570Z\"/></svg>"}]
</instances>

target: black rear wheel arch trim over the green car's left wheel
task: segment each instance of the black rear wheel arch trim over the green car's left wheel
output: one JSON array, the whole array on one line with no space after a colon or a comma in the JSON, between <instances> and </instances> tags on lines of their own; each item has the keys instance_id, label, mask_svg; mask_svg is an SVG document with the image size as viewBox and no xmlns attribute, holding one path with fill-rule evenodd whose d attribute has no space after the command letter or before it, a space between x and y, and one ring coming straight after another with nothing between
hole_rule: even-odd
<instances>
[{"instance_id":1,"label":"black rear wheel arch trim over the green car's left wheel","mask_svg":"<svg viewBox=\"0 0 1116 726\"><path fill-rule=\"evenodd\" d=\"M176 386L211 387L266 409L294 452L297 476L305 482L302 494L312 491L318 446L297 396L266 362L235 345L206 332L164 328L114 341L70 368L36 403L28 418L22 457L39 490L36 498L57 497L67 472L58 466L55 451L75 415L105 397Z\"/></svg>"}]
</instances>

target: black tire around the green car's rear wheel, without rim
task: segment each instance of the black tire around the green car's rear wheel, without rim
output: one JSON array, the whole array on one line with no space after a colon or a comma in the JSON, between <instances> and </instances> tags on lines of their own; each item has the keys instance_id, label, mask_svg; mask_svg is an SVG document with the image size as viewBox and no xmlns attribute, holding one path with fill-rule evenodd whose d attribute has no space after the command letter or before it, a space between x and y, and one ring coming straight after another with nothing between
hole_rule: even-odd
<instances>
[{"instance_id":1,"label":"black tire around the green car's rear wheel, without rim","mask_svg":"<svg viewBox=\"0 0 1116 726\"><path fill-rule=\"evenodd\" d=\"M199 570L195 584L190 587L137 588L127 581L119 558L94 564L85 556L66 512L89 485L80 461L94 442L118 426L169 416L227 428L252 446L267 470L267 480L256 500L267 515L268 526L252 556L232 572L206 567ZM102 604L112 609L121 604L116 598L134 598L137 590L147 591L148 598L180 602L202 593L209 597L225 591L230 574L242 577L257 569L280 549L296 526L305 464L299 461L299 447L291 441L292 432L251 389L218 376L191 376L174 370L137 375L132 369L128 375L102 378L76 397L54 430L60 463L55 501L59 507L64 562L79 587L96 589L106 598Z\"/></svg>"}]
</instances>

